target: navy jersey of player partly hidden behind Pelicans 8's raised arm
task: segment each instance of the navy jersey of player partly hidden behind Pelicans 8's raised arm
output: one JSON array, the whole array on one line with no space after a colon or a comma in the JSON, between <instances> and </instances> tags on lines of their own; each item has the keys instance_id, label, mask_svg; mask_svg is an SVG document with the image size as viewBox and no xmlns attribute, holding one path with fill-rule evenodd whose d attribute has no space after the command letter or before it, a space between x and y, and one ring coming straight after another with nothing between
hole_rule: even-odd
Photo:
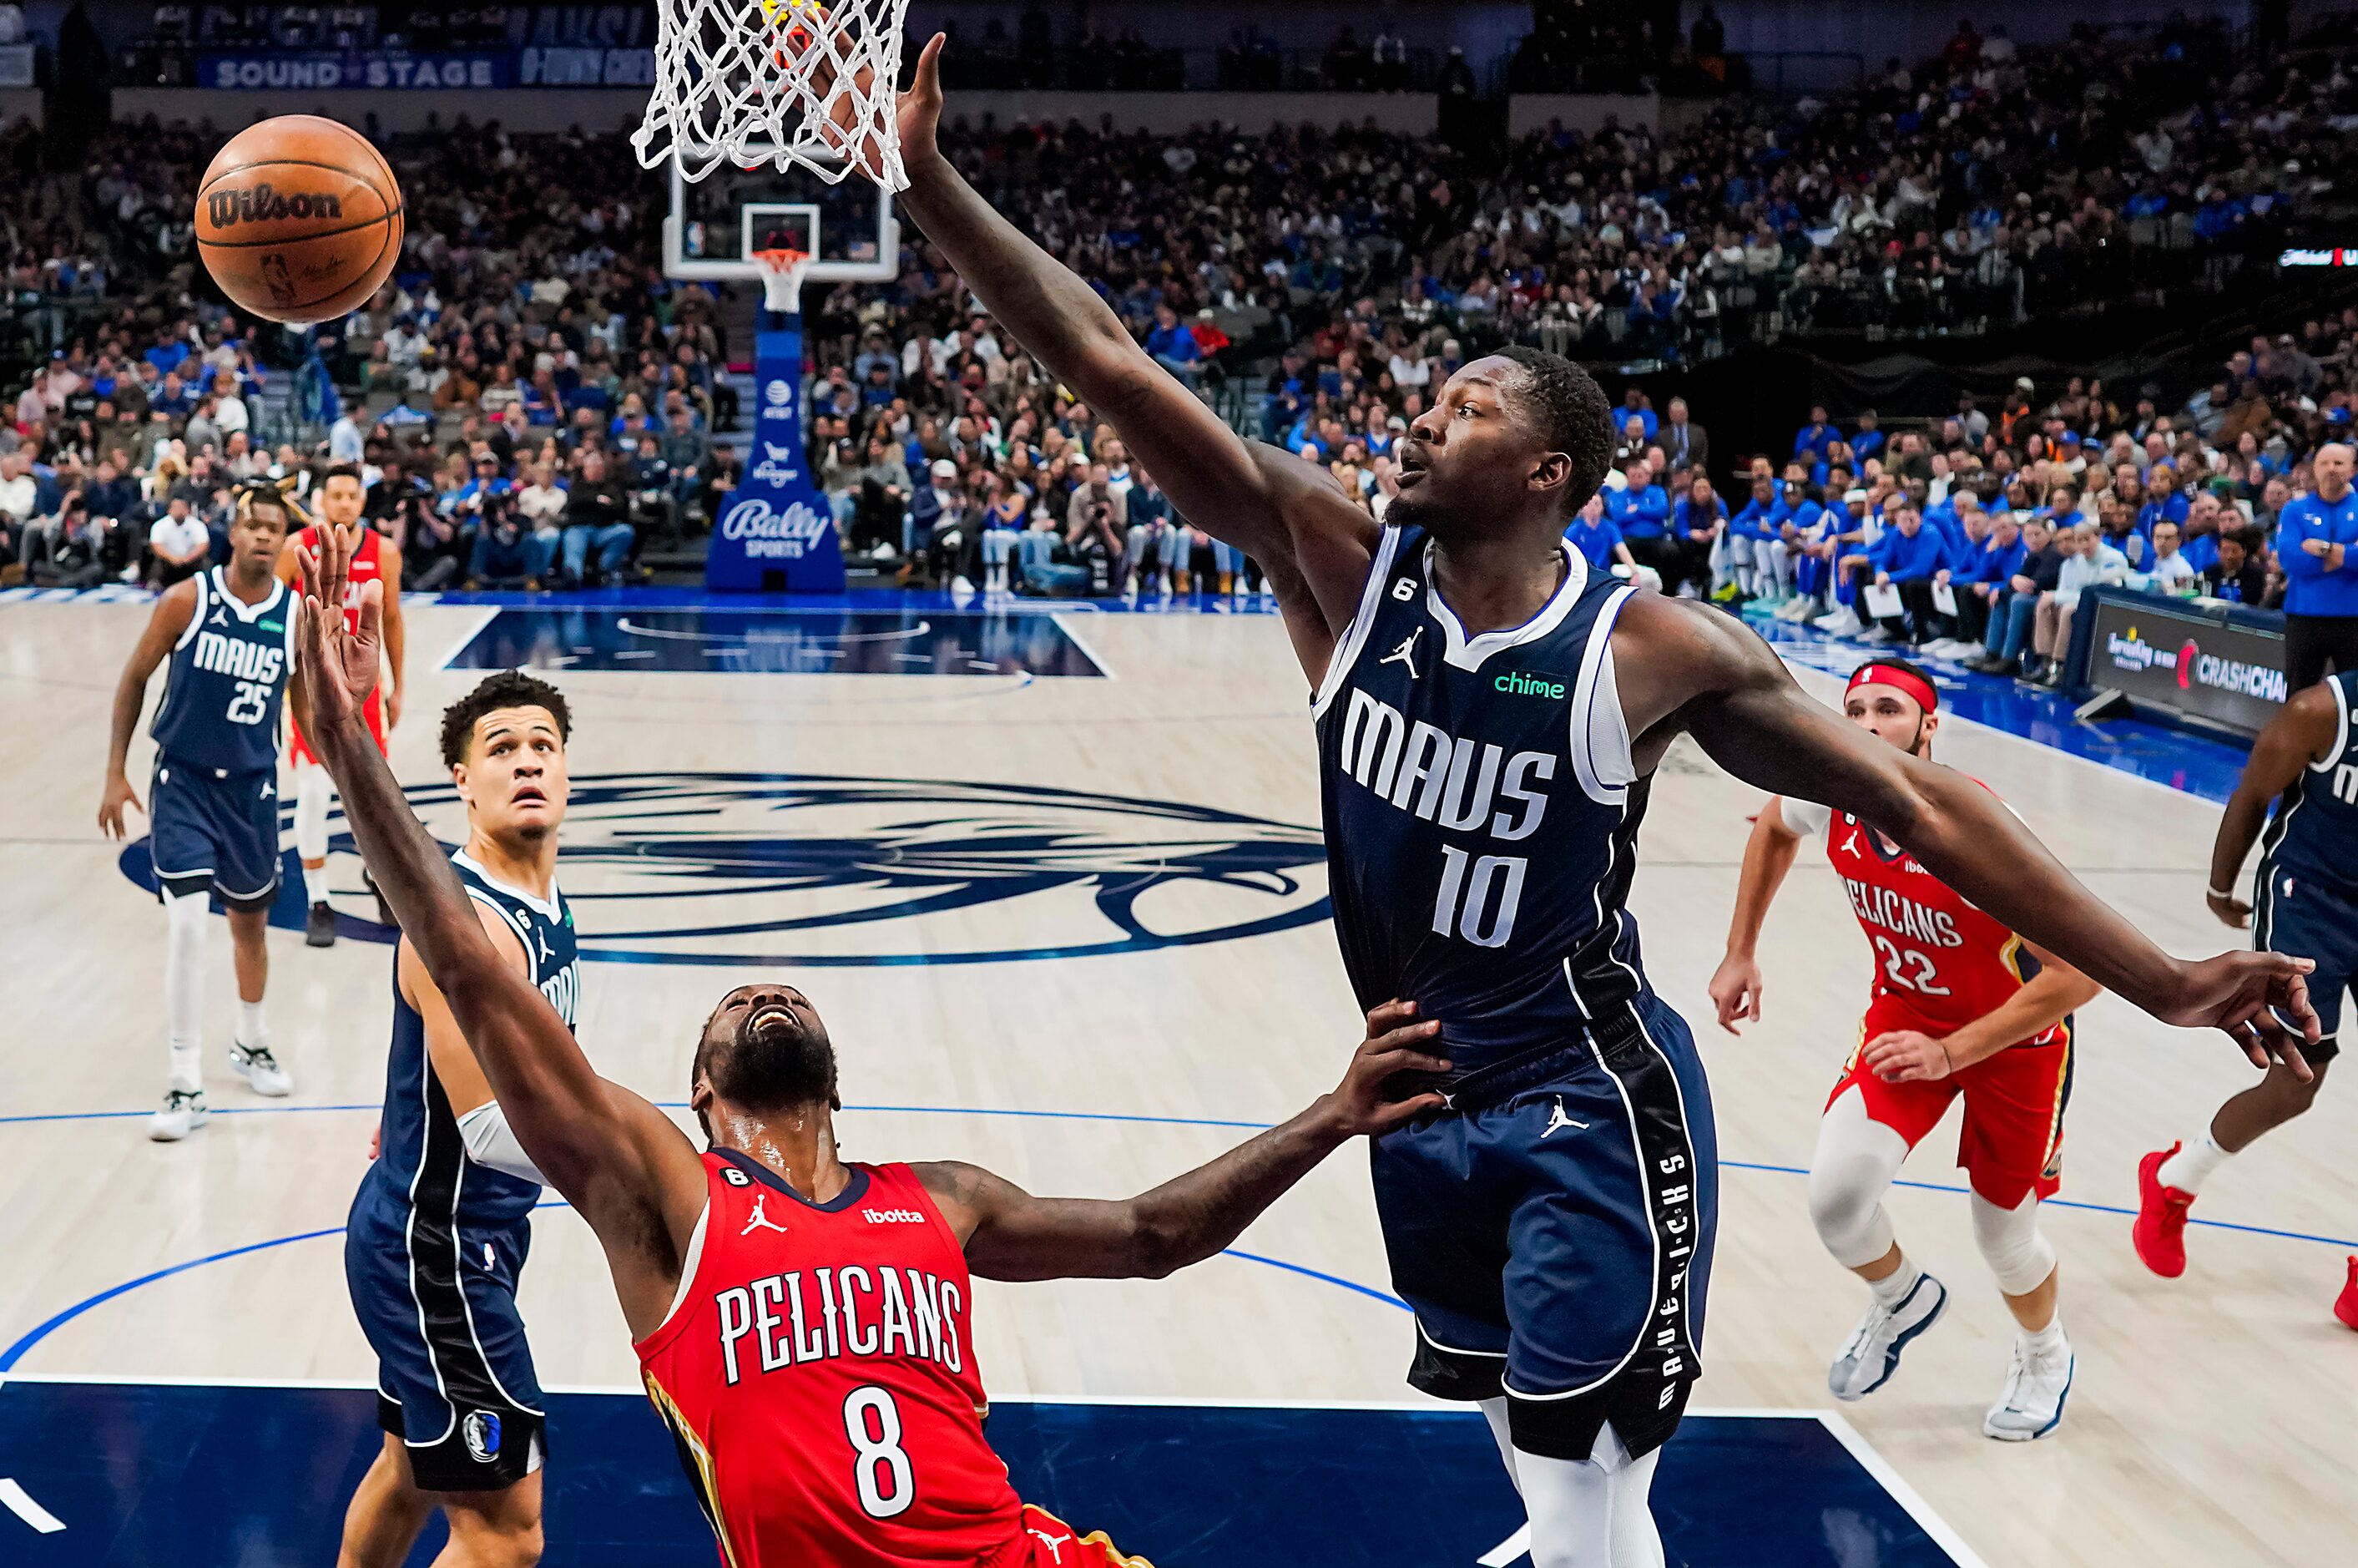
<instances>
[{"instance_id":1,"label":"navy jersey of player partly hidden behind Pelicans 8's raised arm","mask_svg":"<svg viewBox=\"0 0 2358 1568\"><path fill-rule=\"evenodd\" d=\"M549 1000L556 1016L573 1028L573 1002L580 995L580 960L573 948L573 910L549 884L542 903L523 889L493 882L465 851L450 856L460 882L476 903L498 910L516 931L531 960L531 981ZM399 957L396 957L399 964ZM401 995L394 979L394 1049L384 1068L384 1141L370 1179L380 1198L406 1203L439 1224L462 1226L514 1224L540 1200L540 1186L476 1165L460 1144L457 1118L443 1096L441 1078L427 1056L427 1023Z\"/></svg>"}]
</instances>

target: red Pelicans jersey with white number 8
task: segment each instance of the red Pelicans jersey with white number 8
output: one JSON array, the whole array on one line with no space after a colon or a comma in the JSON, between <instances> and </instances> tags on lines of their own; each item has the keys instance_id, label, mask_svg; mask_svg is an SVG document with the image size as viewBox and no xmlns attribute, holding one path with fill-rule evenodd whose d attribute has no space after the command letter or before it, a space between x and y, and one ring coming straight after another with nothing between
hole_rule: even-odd
<instances>
[{"instance_id":1,"label":"red Pelicans jersey with white number 8","mask_svg":"<svg viewBox=\"0 0 2358 1568\"><path fill-rule=\"evenodd\" d=\"M814 1205L714 1148L705 1191L672 1316L637 1349L722 1559L1030 1563L983 1441L967 1254L915 1172L854 1165Z\"/></svg>"}]
</instances>

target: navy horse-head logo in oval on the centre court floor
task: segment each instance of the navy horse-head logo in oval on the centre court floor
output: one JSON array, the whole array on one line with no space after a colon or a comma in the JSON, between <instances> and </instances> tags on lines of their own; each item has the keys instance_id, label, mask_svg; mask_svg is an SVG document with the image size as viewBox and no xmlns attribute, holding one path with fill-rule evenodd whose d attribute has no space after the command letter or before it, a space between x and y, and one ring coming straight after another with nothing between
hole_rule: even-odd
<instances>
[{"instance_id":1,"label":"navy horse-head logo in oval on the centre court floor","mask_svg":"<svg viewBox=\"0 0 2358 1568\"><path fill-rule=\"evenodd\" d=\"M408 792L455 844L448 783ZM281 828L292 839L292 806ZM328 875L358 887L330 816ZM123 870L153 887L146 842ZM1316 828L1042 785L830 773L573 778L556 877L582 957L634 964L995 964L1151 953L1328 920ZM302 929L288 849L274 924ZM394 941L340 894L340 931Z\"/></svg>"}]
</instances>

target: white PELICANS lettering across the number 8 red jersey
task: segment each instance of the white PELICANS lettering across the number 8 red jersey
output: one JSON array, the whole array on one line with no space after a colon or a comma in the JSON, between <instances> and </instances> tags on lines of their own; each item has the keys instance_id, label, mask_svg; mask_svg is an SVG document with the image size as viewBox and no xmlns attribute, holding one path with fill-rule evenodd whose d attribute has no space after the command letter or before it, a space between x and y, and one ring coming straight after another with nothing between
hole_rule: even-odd
<instances>
[{"instance_id":1,"label":"white PELICANS lettering across the number 8 red jersey","mask_svg":"<svg viewBox=\"0 0 2358 1568\"><path fill-rule=\"evenodd\" d=\"M964 1372L957 1320L967 1297L924 1269L790 1269L712 1292L712 1309L731 1389L755 1370L837 1356L908 1356Z\"/></svg>"}]
</instances>

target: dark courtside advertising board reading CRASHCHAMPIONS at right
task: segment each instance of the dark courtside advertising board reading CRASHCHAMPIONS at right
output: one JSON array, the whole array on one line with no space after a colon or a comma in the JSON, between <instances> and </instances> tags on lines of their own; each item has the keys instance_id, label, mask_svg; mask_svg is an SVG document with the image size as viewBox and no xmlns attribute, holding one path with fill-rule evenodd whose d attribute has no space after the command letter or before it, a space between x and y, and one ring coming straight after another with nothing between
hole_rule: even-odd
<instances>
[{"instance_id":1,"label":"dark courtside advertising board reading CRASHCHAMPIONS at right","mask_svg":"<svg viewBox=\"0 0 2358 1568\"><path fill-rule=\"evenodd\" d=\"M2292 696L2283 632L2113 592L2096 601L2087 684L2247 736L2266 729Z\"/></svg>"}]
</instances>

